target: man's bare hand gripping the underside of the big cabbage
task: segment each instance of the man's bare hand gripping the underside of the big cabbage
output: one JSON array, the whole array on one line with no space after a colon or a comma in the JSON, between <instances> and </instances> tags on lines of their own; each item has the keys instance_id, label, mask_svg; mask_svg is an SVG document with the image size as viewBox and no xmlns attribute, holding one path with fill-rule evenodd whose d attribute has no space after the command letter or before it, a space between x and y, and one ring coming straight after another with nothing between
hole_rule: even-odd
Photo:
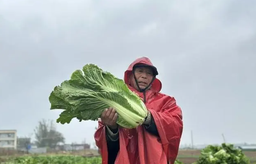
<instances>
[{"instance_id":1,"label":"man's bare hand gripping the underside of the big cabbage","mask_svg":"<svg viewBox=\"0 0 256 164\"><path fill-rule=\"evenodd\" d=\"M117 119L116 110L111 107L108 109L105 109L101 115L101 121L111 129L117 129L116 119Z\"/></svg>"}]
</instances>

